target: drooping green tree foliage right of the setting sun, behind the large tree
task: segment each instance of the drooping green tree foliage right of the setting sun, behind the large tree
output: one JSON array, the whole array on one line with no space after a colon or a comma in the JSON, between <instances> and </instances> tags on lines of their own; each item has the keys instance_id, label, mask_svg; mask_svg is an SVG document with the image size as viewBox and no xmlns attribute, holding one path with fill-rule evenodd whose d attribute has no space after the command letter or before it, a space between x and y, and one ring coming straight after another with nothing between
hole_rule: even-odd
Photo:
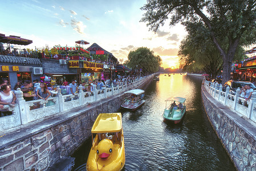
<instances>
[{"instance_id":1,"label":"drooping green tree foliage right of the setting sun, behind the large tree","mask_svg":"<svg viewBox=\"0 0 256 171\"><path fill-rule=\"evenodd\" d=\"M207 30L201 23L190 23L186 30L188 35L182 40L178 51L180 68L186 72L205 71L215 78L222 70L223 60L210 36L207 36ZM221 44L225 47L227 39ZM241 60L243 52L243 48L238 46L235 59Z\"/></svg>"}]
</instances>

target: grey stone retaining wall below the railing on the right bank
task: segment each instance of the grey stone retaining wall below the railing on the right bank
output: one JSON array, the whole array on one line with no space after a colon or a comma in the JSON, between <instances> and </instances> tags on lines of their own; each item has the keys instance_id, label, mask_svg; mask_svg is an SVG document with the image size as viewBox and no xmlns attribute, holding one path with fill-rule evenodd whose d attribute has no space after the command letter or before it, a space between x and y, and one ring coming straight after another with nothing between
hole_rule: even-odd
<instances>
[{"instance_id":1,"label":"grey stone retaining wall below the railing on the right bank","mask_svg":"<svg viewBox=\"0 0 256 171\"><path fill-rule=\"evenodd\" d=\"M215 100L205 87L202 101L212 127L238 170L256 170L255 123Z\"/></svg>"}]
</instances>

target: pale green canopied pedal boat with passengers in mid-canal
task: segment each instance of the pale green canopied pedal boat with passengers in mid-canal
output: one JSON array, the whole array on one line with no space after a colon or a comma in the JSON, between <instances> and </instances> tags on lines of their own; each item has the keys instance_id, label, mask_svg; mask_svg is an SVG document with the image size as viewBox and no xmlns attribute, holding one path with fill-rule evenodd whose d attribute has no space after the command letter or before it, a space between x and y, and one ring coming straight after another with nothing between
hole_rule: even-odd
<instances>
[{"instance_id":1,"label":"pale green canopied pedal boat with passengers in mid-canal","mask_svg":"<svg viewBox=\"0 0 256 171\"><path fill-rule=\"evenodd\" d=\"M165 100L164 120L172 121L174 124L180 123L186 112L185 98L170 97Z\"/></svg>"}]
</instances>

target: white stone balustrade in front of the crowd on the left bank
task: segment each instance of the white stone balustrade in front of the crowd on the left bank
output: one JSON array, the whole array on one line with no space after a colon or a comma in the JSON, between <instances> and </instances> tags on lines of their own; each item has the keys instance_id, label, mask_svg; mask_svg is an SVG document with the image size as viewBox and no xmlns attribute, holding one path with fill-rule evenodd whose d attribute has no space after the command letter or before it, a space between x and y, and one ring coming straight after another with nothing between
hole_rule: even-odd
<instances>
[{"instance_id":1,"label":"white stone balustrade in front of the crowd on the left bank","mask_svg":"<svg viewBox=\"0 0 256 171\"><path fill-rule=\"evenodd\" d=\"M94 86L93 92L83 92L83 87L80 85L79 91L75 95L62 95L58 86L56 96L49 97L47 100L25 101L23 99L23 92L18 88L15 94L17 96L15 107L4 105L3 109L11 111L13 114L0 117L0 131L15 129L19 125L24 125L32 121L39 122L53 116L61 115L63 111L71 110L80 105L90 104L94 101L118 95L129 89L136 88L149 78L153 78L153 75L144 76L143 78L135 79L133 83L125 83L117 87L113 87L113 83L111 85L112 87L105 89L96 89L96 86ZM0 111L3 109L0 109Z\"/></svg>"}]
</instances>

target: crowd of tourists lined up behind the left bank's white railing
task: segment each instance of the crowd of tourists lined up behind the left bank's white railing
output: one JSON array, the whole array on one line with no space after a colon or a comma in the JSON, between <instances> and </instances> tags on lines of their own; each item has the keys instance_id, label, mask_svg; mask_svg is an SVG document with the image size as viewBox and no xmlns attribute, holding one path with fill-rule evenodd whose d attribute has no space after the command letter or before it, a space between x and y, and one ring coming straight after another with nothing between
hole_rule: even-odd
<instances>
[{"instance_id":1,"label":"crowd of tourists lined up behind the left bank's white railing","mask_svg":"<svg viewBox=\"0 0 256 171\"><path fill-rule=\"evenodd\" d=\"M137 76L118 76L116 79L111 80L103 80L103 79L95 79L89 84L85 82L82 83L83 91L90 92L90 95L94 95L94 88L96 89L105 89L113 86L121 86L125 84L131 84L135 82ZM31 100L47 100L50 96L53 97L58 93L58 88L56 86L47 85L46 83L40 80L34 80L30 82L29 80L25 80L25 82L17 82L13 88L9 84L7 79L0 80L0 117L11 115L12 112L8 111L8 109L3 109L4 105L9 105L10 107L15 106L17 89L21 88L23 92L23 98L26 101ZM79 84L76 83L76 80L72 80L71 83L68 83L67 80L64 80L62 86L60 86L60 91L64 92L64 95L75 95L78 93ZM63 91L65 90L65 91ZM46 106L51 105L51 101L49 101Z\"/></svg>"}]
</instances>

